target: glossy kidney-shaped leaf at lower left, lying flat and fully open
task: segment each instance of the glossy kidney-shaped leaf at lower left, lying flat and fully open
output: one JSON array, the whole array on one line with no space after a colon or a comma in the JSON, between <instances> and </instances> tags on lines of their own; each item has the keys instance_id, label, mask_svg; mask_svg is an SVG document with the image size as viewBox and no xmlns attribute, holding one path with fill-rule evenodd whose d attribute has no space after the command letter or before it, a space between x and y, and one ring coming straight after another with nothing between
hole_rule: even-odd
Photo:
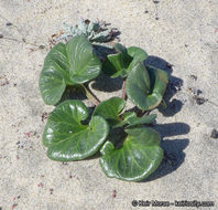
<instances>
[{"instance_id":1,"label":"glossy kidney-shaped leaf at lower left, lying flat and fully open","mask_svg":"<svg viewBox=\"0 0 218 210\"><path fill-rule=\"evenodd\" d=\"M88 125L88 109L80 101L65 101L48 116L43 134L47 156L53 160L70 161L87 158L105 143L109 126L100 116L92 116Z\"/></svg>"}]
</instances>

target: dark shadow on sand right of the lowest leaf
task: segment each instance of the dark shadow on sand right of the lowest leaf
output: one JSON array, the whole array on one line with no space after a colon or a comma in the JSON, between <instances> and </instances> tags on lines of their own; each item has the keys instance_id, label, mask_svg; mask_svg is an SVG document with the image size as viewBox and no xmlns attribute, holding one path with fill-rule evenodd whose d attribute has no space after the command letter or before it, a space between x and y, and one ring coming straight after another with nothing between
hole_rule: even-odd
<instances>
[{"instance_id":1,"label":"dark shadow on sand right of the lowest leaf","mask_svg":"<svg viewBox=\"0 0 218 210\"><path fill-rule=\"evenodd\" d=\"M162 134L162 137L171 137L176 135L184 135L189 133L189 126L185 123L172 123L156 125L154 129ZM161 147L164 150L164 157L159 168L144 180L140 182L148 182L161 177L164 177L175 171L185 161L185 153L183 151L189 144L189 139L164 139L161 140Z\"/></svg>"}]
</instances>

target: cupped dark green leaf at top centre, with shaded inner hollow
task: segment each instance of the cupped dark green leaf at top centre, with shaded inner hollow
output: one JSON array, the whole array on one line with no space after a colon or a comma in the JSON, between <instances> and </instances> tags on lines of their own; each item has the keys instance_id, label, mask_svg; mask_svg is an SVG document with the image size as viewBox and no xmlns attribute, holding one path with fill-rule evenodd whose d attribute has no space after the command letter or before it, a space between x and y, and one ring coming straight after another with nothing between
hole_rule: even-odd
<instances>
[{"instance_id":1,"label":"cupped dark green leaf at top centre, with shaded inner hollow","mask_svg":"<svg viewBox=\"0 0 218 210\"><path fill-rule=\"evenodd\" d=\"M102 65L102 71L111 77L126 77L137 63L148 57L146 52L137 46L126 49L121 44L116 44L115 49L118 53L108 55Z\"/></svg>"}]
</instances>

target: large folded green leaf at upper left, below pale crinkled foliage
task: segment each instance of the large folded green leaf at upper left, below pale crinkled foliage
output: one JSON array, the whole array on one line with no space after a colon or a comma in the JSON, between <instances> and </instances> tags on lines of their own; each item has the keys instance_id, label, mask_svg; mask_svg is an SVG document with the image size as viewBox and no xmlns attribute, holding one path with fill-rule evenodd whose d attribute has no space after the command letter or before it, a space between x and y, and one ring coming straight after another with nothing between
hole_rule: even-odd
<instances>
[{"instance_id":1,"label":"large folded green leaf at upper left, below pale crinkled foliage","mask_svg":"<svg viewBox=\"0 0 218 210\"><path fill-rule=\"evenodd\" d=\"M85 36L67 44L58 43L47 54L40 75L40 91L45 104L55 105L67 85L85 83L100 72L100 61Z\"/></svg>"}]
</instances>

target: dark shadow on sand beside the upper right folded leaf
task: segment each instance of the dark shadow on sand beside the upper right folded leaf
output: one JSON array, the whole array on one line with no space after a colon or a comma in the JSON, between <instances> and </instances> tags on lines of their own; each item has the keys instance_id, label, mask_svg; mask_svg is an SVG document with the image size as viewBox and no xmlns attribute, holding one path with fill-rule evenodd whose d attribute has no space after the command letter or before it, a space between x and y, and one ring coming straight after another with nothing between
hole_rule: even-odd
<instances>
[{"instance_id":1,"label":"dark shadow on sand beside the upper right folded leaf","mask_svg":"<svg viewBox=\"0 0 218 210\"><path fill-rule=\"evenodd\" d=\"M152 65L154 67L157 67L160 70L163 70L167 72L168 74L168 85L166 87L166 92L164 95L164 101L166 103L166 108L163 108L162 106L159 106L157 109L164 115L164 116L173 116L176 113L178 113L182 109L183 103L179 99L172 99L171 98L181 91L181 87L183 86L183 80L175 77L172 75L173 73L173 65L170 64L167 61L150 55L144 61L145 65Z\"/></svg>"}]
</instances>

